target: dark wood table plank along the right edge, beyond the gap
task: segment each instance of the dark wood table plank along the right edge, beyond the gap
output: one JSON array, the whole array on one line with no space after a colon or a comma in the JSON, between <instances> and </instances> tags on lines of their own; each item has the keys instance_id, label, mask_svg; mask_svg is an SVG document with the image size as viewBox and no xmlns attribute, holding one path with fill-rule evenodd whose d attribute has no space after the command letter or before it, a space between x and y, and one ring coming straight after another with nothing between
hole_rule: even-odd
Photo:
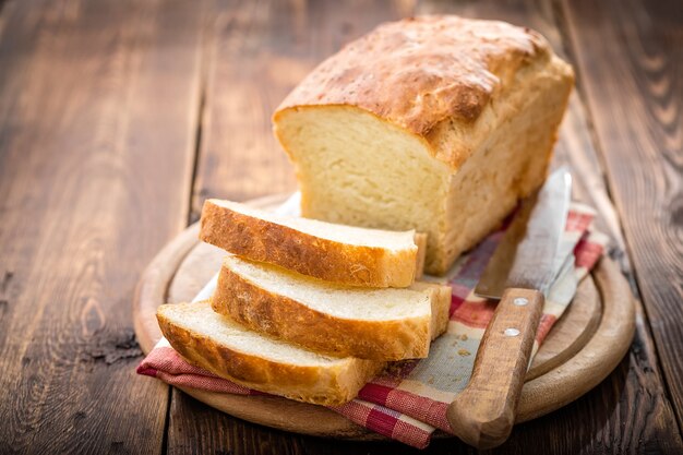
<instances>
[{"instance_id":1,"label":"dark wood table plank along the right edge, beyond the gap","mask_svg":"<svg viewBox=\"0 0 683 455\"><path fill-rule=\"evenodd\" d=\"M683 7L563 2L580 87L683 423Z\"/></svg>"}]
</instances>

